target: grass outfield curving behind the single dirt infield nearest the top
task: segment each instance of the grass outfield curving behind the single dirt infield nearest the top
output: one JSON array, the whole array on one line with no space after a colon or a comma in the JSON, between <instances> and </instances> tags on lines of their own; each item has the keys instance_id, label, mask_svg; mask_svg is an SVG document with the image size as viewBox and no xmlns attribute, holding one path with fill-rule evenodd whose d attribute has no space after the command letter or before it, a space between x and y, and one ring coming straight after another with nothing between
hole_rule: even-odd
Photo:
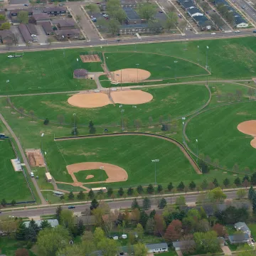
<instances>
[{"instance_id":1,"label":"grass outfield curving behind the single dirt infield nearest the top","mask_svg":"<svg viewBox=\"0 0 256 256\"><path fill-rule=\"evenodd\" d=\"M206 75L208 73L196 63L155 53L105 53L105 60L110 71L121 70L124 68L147 70L151 73L148 80L175 77L181 78L191 75ZM124 77L123 80L125 79L127 78Z\"/></svg>"}]
</instances>

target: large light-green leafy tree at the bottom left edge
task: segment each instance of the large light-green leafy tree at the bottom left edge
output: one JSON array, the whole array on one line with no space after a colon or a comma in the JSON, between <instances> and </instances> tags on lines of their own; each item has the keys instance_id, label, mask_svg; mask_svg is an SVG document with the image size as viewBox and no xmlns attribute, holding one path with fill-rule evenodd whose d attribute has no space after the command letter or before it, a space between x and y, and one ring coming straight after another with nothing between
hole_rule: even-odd
<instances>
[{"instance_id":1,"label":"large light-green leafy tree at the bottom left edge","mask_svg":"<svg viewBox=\"0 0 256 256\"><path fill-rule=\"evenodd\" d=\"M58 250L68 245L70 235L66 228L58 225L55 228L46 228L38 234L36 245L42 256L54 256Z\"/></svg>"}]
</instances>

